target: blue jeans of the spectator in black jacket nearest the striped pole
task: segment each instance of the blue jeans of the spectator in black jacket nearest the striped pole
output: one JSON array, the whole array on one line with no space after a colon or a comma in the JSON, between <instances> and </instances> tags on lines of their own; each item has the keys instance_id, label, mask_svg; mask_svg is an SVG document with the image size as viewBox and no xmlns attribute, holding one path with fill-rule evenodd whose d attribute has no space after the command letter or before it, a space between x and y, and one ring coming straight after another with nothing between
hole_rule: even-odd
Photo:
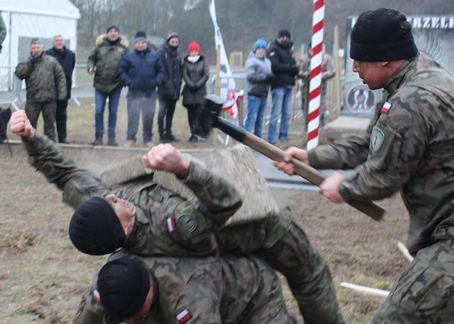
<instances>
[{"instance_id":1,"label":"blue jeans of the spectator in black jacket nearest the striped pole","mask_svg":"<svg viewBox=\"0 0 454 324\"><path fill-rule=\"evenodd\" d=\"M287 139L289 132L290 112L292 112L292 88L279 87L271 90L272 109L270 116L270 125L268 126L267 141L275 144L276 142L276 126L279 115L281 125L279 129L279 141Z\"/></svg>"}]
</instances>

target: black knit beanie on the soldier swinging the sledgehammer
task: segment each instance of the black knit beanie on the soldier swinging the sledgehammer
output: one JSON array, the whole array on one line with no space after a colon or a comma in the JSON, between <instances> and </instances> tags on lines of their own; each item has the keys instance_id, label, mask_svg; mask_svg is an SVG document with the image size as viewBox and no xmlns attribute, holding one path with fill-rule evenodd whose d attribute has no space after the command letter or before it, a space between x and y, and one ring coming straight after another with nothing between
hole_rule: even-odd
<instances>
[{"instance_id":1,"label":"black knit beanie on the soldier swinging the sledgehammer","mask_svg":"<svg viewBox=\"0 0 454 324\"><path fill-rule=\"evenodd\" d=\"M404 13L380 8L364 11L350 36L350 58L363 62L404 60L418 53Z\"/></svg>"}]
</instances>

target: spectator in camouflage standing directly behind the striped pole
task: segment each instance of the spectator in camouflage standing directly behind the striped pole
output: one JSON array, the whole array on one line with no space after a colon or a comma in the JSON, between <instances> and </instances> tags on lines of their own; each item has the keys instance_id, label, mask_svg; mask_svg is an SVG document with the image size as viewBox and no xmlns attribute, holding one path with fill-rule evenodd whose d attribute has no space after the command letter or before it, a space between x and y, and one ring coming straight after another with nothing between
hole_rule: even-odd
<instances>
[{"instance_id":1,"label":"spectator in camouflage standing directly behind the striped pole","mask_svg":"<svg viewBox=\"0 0 454 324\"><path fill-rule=\"evenodd\" d=\"M311 80L311 58L312 46L309 43L307 53L301 55L298 60L299 73L301 79L301 109L304 114L309 112L309 84ZM321 59L321 100L320 100L320 119L323 121L326 113L326 82L336 75L336 67L333 63L331 55L323 53Z\"/></svg>"}]
</instances>

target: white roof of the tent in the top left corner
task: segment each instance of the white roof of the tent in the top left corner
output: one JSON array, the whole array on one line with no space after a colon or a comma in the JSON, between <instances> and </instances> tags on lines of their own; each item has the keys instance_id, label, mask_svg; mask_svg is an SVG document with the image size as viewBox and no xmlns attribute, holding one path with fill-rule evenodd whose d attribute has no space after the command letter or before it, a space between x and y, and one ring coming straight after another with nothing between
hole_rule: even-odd
<instances>
[{"instance_id":1,"label":"white roof of the tent in the top left corner","mask_svg":"<svg viewBox=\"0 0 454 324\"><path fill-rule=\"evenodd\" d=\"M0 11L80 18L79 9L69 0L0 0Z\"/></svg>"}]
</instances>

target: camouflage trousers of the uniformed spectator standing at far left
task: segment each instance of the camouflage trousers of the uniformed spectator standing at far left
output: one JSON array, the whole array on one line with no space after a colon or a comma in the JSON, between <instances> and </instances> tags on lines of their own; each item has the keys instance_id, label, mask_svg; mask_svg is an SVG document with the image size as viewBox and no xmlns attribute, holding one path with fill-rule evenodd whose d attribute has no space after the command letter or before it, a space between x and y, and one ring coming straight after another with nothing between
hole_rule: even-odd
<instances>
[{"instance_id":1,"label":"camouflage trousers of the uniformed spectator standing at far left","mask_svg":"<svg viewBox=\"0 0 454 324\"><path fill-rule=\"evenodd\" d=\"M36 129L40 113L43 112L44 134L55 141L55 112L57 102L26 102L26 114L31 126Z\"/></svg>"}]
</instances>

